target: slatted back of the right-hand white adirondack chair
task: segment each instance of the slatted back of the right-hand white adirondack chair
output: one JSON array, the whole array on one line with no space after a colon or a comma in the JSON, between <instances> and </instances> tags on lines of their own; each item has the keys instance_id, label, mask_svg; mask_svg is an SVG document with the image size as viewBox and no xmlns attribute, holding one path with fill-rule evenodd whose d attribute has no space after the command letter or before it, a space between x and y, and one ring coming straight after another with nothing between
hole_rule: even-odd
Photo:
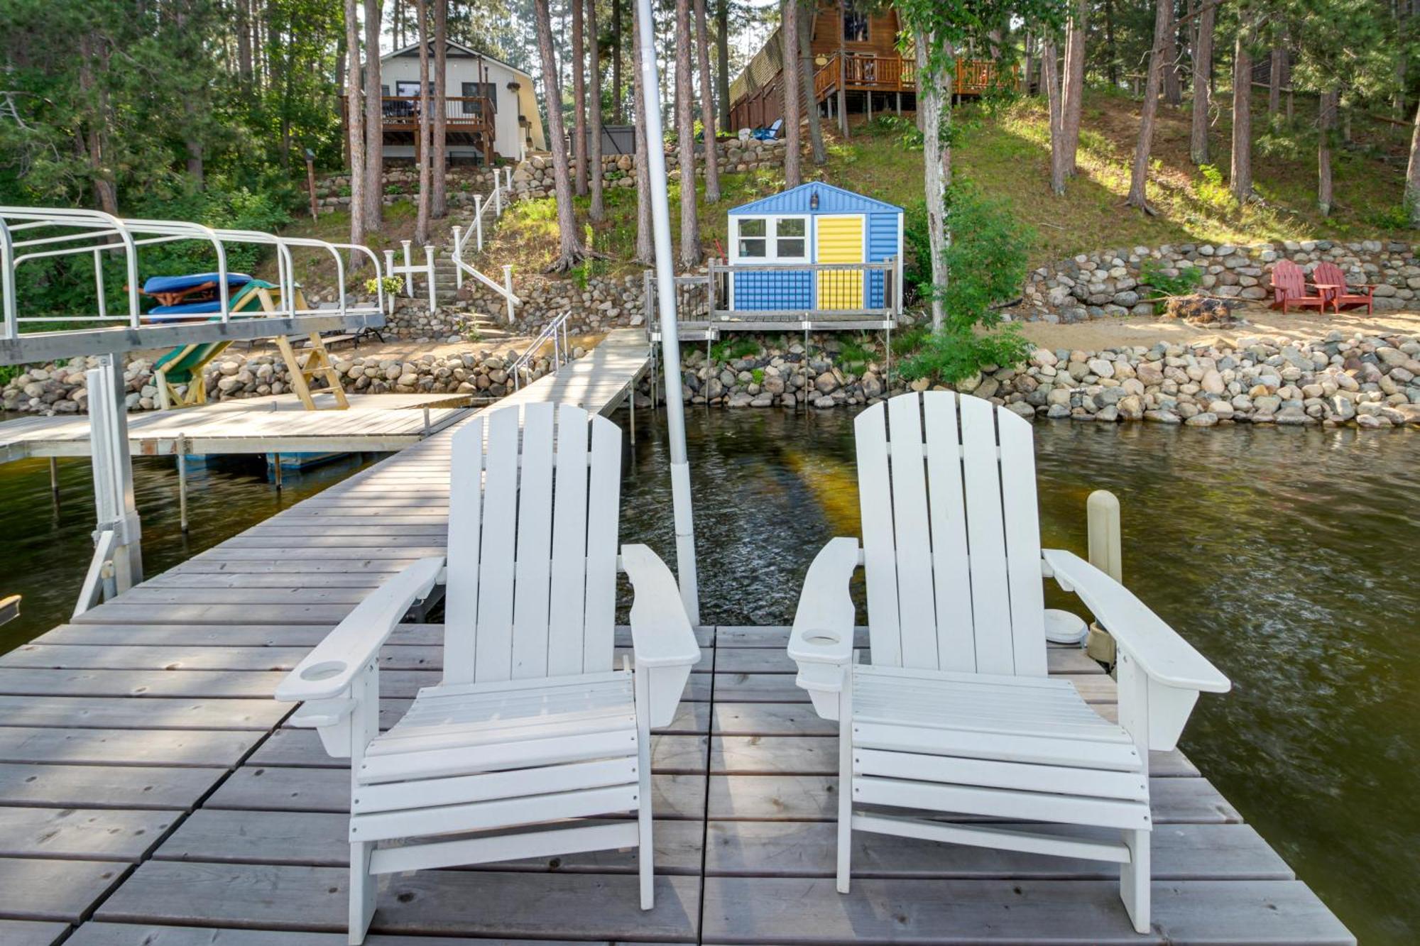
<instances>
[{"instance_id":1,"label":"slatted back of the right-hand white adirondack chair","mask_svg":"<svg viewBox=\"0 0 1420 946\"><path fill-rule=\"evenodd\" d=\"M1030 422L930 391L868 408L855 439L873 663L1044 675Z\"/></svg>"}]
</instances>

